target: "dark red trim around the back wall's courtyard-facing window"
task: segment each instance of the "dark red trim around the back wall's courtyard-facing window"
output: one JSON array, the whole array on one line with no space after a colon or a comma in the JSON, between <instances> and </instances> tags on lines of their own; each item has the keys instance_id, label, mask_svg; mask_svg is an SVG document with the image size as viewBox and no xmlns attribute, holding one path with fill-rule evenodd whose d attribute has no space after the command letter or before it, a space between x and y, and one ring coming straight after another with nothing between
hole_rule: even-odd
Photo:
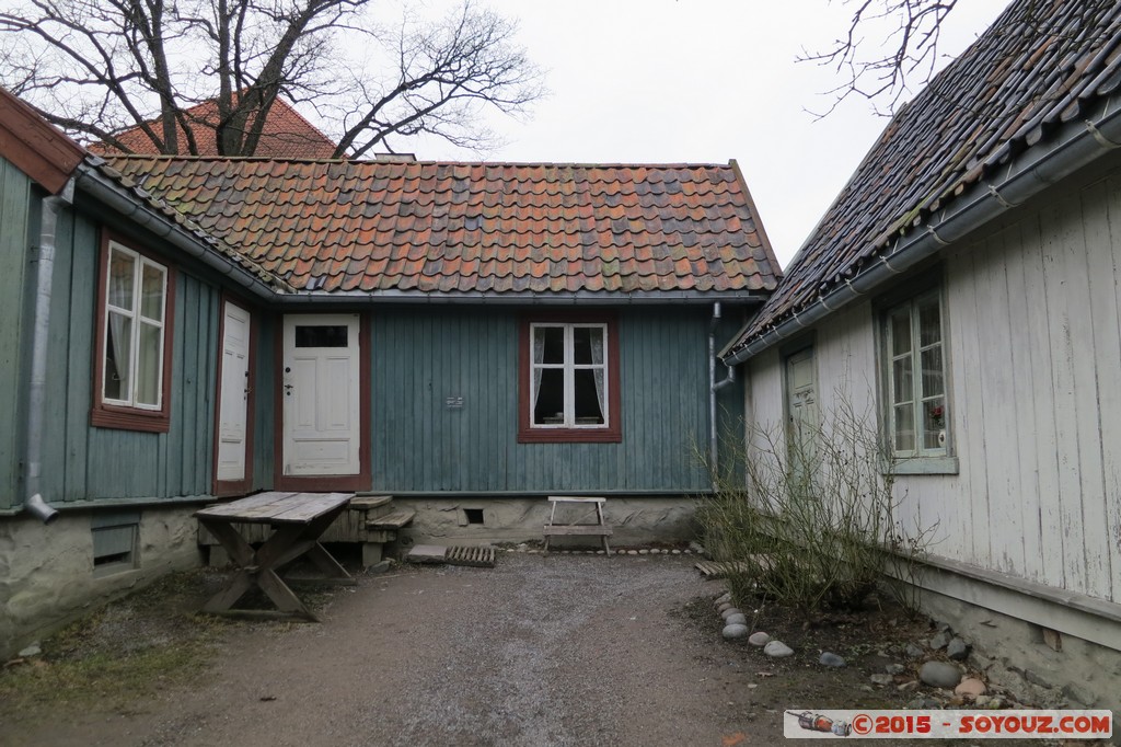
<instances>
[{"instance_id":1,"label":"dark red trim around the back wall's courtyard-facing window","mask_svg":"<svg viewBox=\"0 0 1121 747\"><path fill-rule=\"evenodd\" d=\"M529 406L529 333L532 324L608 325L608 427L532 427ZM518 443L620 443L623 440L622 405L619 390L619 320L614 313L527 314L518 331Z\"/></svg>"}]
</instances>

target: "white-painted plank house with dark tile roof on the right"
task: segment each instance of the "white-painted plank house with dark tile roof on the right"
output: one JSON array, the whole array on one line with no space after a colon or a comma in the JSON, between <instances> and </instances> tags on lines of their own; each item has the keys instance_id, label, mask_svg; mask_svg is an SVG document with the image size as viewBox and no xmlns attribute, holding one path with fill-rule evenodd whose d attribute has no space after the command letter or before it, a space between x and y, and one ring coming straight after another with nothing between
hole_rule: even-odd
<instances>
[{"instance_id":1,"label":"white-painted plank house with dark tile roof on the right","mask_svg":"<svg viewBox=\"0 0 1121 747\"><path fill-rule=\"evenodd\" d=\"M1013 2L892 119L722 353L749 428L841 397L874 413L897 518L935 527L924 603L999 652L991 676L1114 709L1119 45L1111 0Z\"/></svg>"}]
</instances>

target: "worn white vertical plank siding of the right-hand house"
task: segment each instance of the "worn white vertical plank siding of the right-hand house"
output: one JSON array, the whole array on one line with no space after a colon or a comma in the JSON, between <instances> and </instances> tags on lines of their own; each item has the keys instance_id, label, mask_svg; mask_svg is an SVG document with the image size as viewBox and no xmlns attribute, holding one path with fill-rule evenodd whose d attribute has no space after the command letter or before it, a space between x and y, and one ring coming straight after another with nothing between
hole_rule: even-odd
<instances>
[{"instance_id":1,"label":"worn white vertical plank siding of the right-hand house","mask_svg":"<svg viewBox=\"0 0 1121 747\"><path fill-rule=\"evenodd\" d=\"M1117 174L947 252L960 473L897 480L902 520L937 524L933 553L1121 602L1119 268ZM817 335L823 411L846 369L853 400L874 408L871 305ZM749 371L752 421L780 422L778 354Z\"/></svg>"}]
</instances>

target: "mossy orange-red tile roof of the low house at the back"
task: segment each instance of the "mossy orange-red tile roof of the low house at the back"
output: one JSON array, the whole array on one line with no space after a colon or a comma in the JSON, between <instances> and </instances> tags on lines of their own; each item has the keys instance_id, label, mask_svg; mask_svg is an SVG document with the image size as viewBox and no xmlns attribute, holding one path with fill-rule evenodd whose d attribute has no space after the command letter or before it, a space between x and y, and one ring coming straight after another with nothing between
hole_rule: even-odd
<instances>
[{"instance_id":1,"label":"mossy orange-red tile roof of the low house at the back","mask_svg":"<svg viewBox=\"0 0 1121 747\"><path fill-rule=\"evenodd\" d=\"M779 274L734 162L106 158L297 289L761 297Z\"/></svg>"}]
</instances>

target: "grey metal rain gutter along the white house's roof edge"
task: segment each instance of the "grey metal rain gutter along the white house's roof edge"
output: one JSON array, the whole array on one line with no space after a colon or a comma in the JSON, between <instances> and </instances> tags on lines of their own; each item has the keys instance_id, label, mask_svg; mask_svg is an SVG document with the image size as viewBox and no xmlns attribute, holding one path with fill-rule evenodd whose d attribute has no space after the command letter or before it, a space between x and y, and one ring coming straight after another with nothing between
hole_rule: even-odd
<instances>
[{"instance_id":1,"label":"grey metal rain gutter along the white house's roof edge","mask_svg":"<svg viewBox=\"0 0 1121 747\"><path fill-rule=\"evenodd\" d=\"M1096 121L1086 119L1064 126L1049 147L1036 146L1012 159L999 182L983 181L972 186L949 208L932 215L927 225L898 238L891 251L882 255L871 267L754 338L724 358L724 362L729 366L742 363L780 340L813 326L892 276L907 271L1001 213L1040 194L1104 153L1121 147L1121 101L1118 95L1109 96L1099 112Z\"/></svg>"}]
</instances>

